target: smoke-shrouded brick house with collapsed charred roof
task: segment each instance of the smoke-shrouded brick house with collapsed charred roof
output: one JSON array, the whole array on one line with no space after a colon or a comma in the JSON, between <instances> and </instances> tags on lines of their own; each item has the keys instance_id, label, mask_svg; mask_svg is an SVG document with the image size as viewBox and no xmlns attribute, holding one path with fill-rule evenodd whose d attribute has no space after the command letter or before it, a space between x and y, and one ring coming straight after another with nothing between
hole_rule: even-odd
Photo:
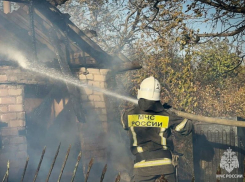
<instances>
[{"instance_id":1,"label":"smoke-shrouded brick house with collapsed charred roof","mask_svg":"<svg viewBox=\"0 0 245 182\"><path fill-rule=\"evenodd\" d=\"M115 72L138 69L139 65L104 52L68 14L56 8L65 0L14 2L17 10L11 10L10 1L3 1L0 11L0 177L9 160L9 180L19 181L29 156L30 175L25 178L33 180L42 149L47 146L38 174L43 181L60 142L64 153L59 153L57 165L62 165L71 145L72 167L81 150L85 174L91 158L103 164L108 159L108 118L115 109L103 93L78 88L69 78L104 89ZM33 72L21 67L22 57L33 67L40 64L48 69L38 67ZM48 77L54 70L58 75ZM69 171L73 169L64 172L64 178L72 176Z\"/></svg>"}]
</instances>

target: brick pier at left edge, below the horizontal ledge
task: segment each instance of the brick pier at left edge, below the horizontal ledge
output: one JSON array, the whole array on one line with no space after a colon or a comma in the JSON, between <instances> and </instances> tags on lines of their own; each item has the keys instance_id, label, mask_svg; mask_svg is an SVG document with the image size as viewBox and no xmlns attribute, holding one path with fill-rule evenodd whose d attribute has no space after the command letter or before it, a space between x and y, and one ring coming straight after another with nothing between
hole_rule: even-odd
<instances>
[{"instance_id":1,"label":"brick pier at left edge, below the horizontal ledge","mask_svg":"<svg viewBox=\"0 0 245 182\"><path fill-rule=\"evenodd\" d=\"M2 76L3 78L3 76ZM16 173L23 167L27 157L26 137L21 136L25 129L23 109L23 85L0 84L0 174L6 171L10 160L10 172Z\"/></svg>"}]
</instances>

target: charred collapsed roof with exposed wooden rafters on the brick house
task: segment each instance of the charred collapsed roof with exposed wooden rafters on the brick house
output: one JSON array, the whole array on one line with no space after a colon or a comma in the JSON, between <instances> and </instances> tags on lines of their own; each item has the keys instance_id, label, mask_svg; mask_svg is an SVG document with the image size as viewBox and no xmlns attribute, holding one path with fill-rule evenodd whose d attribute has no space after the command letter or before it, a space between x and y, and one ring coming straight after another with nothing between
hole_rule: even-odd
<instances>
[{"instance_id":1,"label":"charred collapsed roof with exposed wooden rafters on the brick house","mask_svg":"<svg viewBox=\"0 0 245 182\"><path fill-rule=\"evenodd\" d=\"M20 8L12 13L0 11L0 41L14 45L27 55L33 55L32 23L35 28L35 44L39 61L55 64L55 47L61 50L68 64L74 67L96 67L138 69L137 63L131 63L125 56L111 56L103 51L69 18L69 14L61 13L55 5L66 0L33 1L33 14L29 11L29 1L14 0ZM52 40L55 34L57 41ZM56 45L54 45L56 44ZM68 50L68 52L67 52Z\"/></svg>"}]
</instances>

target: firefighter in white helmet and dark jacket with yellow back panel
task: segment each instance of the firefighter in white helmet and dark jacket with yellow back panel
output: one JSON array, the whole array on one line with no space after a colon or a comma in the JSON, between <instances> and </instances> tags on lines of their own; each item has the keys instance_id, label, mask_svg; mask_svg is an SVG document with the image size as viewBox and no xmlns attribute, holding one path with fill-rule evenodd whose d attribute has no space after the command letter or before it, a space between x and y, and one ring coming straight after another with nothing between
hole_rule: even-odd
<instances>
[{"instance_id":1,"label":"firefighter in white helmet and dark jacket with yellow back panel","mask_svg":"<svg viewBox=\"0 0 245 182\"><path fill-rule=\"evenodd\" d=\"M171 131L188 135L193 125L171 112L168 105L162 105L160 92L157 79L144 79L138 90L138 105L121 116L122 125L129 132L131 152L136 157L131 182L155 182L162 175L168 182L176 181Z\"/></svg>"}]
</instances>

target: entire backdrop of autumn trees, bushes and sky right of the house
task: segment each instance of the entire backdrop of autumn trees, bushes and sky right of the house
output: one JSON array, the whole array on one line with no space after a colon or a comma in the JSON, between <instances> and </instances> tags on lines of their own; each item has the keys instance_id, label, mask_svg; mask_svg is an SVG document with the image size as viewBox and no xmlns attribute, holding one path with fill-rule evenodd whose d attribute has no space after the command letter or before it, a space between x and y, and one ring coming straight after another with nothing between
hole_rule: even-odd
<instances>
[{"instance_id":1,"label":"entire backdrop of autumn trees, bushes and sky right of the house","mask_svg":"<svg viewBox=\"0 0 245 182\"><path fill-rule=\"evenodd\" d=\"M140 82L154 76L162 83L162 102L176 109L245 118L244 7L243 0L72 0L60 9L108 53L142 63L141 70L117 75L117 92L135 96ZM201 32L196 23L211 31ZM177 145L185 156L190 143L184 138Z\"/></svg>"}]
</instances>

